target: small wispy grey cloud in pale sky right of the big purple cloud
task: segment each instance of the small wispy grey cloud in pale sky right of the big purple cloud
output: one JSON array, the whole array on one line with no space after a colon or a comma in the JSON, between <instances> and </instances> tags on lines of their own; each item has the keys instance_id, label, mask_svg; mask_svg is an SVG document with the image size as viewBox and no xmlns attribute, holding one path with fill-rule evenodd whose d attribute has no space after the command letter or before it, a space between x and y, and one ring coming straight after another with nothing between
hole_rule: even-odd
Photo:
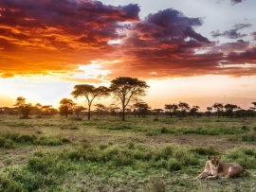
<instances>
[{"instance_id":1,"label":"small wispy grey cloud in pale sky right of the big purple cloud","mask_svg":"<svg viewBox=\"0 0 256 192\"><path fill-rule=\"evenodd\" d=\"M211 36L213 38L227 37L230 39L239 39L239 38L247 37L247 34L243 34L243 33L239 32L239 30L241 30L243 28L247 28L249 26L251 26L251 25L250 24L237 24L237 25L233 26L232 29L226 30L224 32L220 32L218 30L212 31Z\"/></svg>"}]
</instances>

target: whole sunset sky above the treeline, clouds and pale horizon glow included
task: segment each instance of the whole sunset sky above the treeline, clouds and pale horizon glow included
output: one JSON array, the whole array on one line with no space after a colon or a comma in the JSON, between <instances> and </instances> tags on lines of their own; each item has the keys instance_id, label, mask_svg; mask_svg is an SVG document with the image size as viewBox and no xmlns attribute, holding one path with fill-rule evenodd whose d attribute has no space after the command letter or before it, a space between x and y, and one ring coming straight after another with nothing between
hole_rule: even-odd
<instances>
[{"instance_id":1,"label":"whole sunset sky above the treeline, clouds and pale horizon glow included","mask_svg":"<svg viewBox=\"0 0 256 192\"><path fill-rule=\"evenodd\" d=\"M152 108L256 101L255 0L1 0L0 106L131 77ZM74 99L74 98L73 98ZM85 106L84 98L75 102ZM112 102L101 99L96 102Z\"/></svg>"}]
</instances>

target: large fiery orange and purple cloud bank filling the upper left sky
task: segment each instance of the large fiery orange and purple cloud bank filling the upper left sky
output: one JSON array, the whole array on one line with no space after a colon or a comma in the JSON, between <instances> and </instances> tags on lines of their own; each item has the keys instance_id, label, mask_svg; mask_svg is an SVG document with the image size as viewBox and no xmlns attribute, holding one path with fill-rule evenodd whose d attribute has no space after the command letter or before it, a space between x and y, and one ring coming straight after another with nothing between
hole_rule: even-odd
<instances>
[{"instance_id":1,"label":"large fiery orange and purple cloud bank filling the upper left sky","mask_svg":"<svg viewBox=\"0 0 256 192\"><path fill-rule=\"evenodd\" d=\"M63 73L72 63L90 62L111 50L121 23L138 20L135 4L103 5L93 0L2 0L0 2L0 74ZM23 63L23 66L9 62ZM12 62L11 62L12 63ZM29 70L27 70L29 69ZM8 76L9 77L9 76Z\"/></svg>"}]
</instances>

